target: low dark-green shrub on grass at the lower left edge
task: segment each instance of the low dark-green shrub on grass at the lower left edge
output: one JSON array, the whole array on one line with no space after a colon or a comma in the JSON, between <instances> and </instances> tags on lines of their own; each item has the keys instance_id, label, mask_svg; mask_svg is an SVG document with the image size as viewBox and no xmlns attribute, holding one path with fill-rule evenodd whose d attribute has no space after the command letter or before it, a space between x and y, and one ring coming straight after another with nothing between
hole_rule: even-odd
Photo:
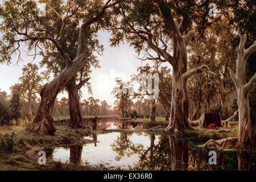
<instances>
[{"instance_id":1,"label":"low dark-green shrub on grass at the lower left edge","mask_svg":"<svg viewBox=\"0 0 256 182\"><path fill-rule=\"evenodd\" d=\"M14 132L11 134L5 134L1 138L0 152L5 153L5 154L12 153L14 150L16 137L17 137L17 135Z\"/></svg>"}]
</instances>

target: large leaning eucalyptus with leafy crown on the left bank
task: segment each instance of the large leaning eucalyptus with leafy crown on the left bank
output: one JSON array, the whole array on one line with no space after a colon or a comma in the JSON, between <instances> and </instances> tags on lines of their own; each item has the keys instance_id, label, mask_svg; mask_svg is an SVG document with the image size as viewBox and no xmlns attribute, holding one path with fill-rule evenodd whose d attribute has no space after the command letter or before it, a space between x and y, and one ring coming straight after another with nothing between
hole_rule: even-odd
<instances>
[{"instance_id":1,"label":"large leaning eucalyptus with leafy crown on the left bank","mask_svg":"<svg viewBox=\"0 0 256 182\"><path fill-rule=\"evenodd\" d=\"M52 109L59 91L88 63L86 37L97 31L97 24L106 10L117 4L111 0L105 4L102 1L40 1L47 2L46 17L38 14L37 3L32 0L5 1L0 8L2 18L1 33L1 62L10 63L11 55L18 52L21 58L20 46L28 45L28 51L35 50L34 56L43 54L43 49L57 50L65 64L65 68L51 82L45 84L40 91L41 102L28 130L38 134L53 134L56 131L53 125ZM66 3L66 4L64 4ZM54 9L54 4L61 4L61 9ZM51 6L51 7L50 7ZM79 35L76 41L75 58L71 58L65 48L68 38L65 28L72 27L71 19L76 19ZM57 34L56 32L59 32ZM57 36L56 36L57 35Z\"/></svg>"}]
</instances>

